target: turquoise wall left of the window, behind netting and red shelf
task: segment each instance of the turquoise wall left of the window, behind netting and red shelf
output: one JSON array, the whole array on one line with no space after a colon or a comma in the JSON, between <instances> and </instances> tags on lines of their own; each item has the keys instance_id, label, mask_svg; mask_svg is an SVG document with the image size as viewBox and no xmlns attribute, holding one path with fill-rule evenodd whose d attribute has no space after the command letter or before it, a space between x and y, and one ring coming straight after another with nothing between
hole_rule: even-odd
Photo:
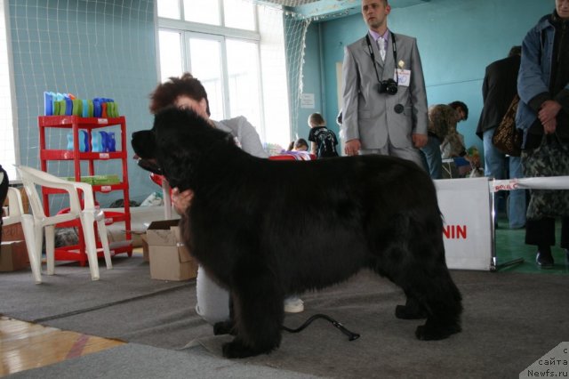
<instances>
[{"instance_id":1,"label":"turquoise wall left of the window, behind netting and red shelf","mask_svg":"<svg viewBox=\"0 0 569 379\"><path fill-rule=\"evenodd\" d=\"M39 168L37 117L44 114L44 91L114 99L126 117L132 157L130 133L151 126L148 93L158 80L153 0L10 0L9 12L20 163ZM66 149L66 133L51 134L48 148ZM141 201L159 187L128 161L131 199ZM48 170L68 176L68 163L53 163ZM116 173L116 165L100 161L96 170ZM97 196L101 206L118 197L122 192Z\"/></svg>"}]
</instances>

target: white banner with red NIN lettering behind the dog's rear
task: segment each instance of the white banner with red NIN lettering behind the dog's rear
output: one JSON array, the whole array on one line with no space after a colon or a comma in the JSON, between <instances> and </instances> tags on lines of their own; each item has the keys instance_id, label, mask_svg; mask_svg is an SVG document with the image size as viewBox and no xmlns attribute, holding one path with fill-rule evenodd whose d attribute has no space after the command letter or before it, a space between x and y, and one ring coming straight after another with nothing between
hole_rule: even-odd
<instances>
[{"instance_id":1,"label":"white banner with red NIN lettering behind the dog's rear","mask_svg":"<svg viewBox=\"0 0 569 379\"><path fill-rule=\"evenodd\" d=\"M492 198L488 178L435 181L444 218L445 256L449 269L491 270Z\"/></svg>"}]
</instances>

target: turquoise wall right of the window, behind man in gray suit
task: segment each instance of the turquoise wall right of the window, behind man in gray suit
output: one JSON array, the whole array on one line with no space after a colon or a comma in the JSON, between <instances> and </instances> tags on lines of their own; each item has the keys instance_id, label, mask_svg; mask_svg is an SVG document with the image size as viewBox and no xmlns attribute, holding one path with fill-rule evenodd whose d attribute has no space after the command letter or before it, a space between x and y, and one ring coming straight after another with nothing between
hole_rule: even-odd
<instances>
[{"instance_id":1,"label":"turquoise wall right of the window, behind man in gray suit","mask_svg":"<svg viewBox=\"0 0 569 379\"><path fill-rule=\"evenodd\" d=\"M391 2L397 5L397 1ZM509 48L521 44L525 33L555 8L554 0L431 0L406 8L394 8L388 25L396 33L417 37L429 105L464 101L469 106L469 119L459 124L467 147L482 141L476 136L482 110L482 81L485 67L505 57ZM311 25L307 52L322 51L320 60L306 60L305 70L322 69L324 79L304 76L308 93L325 95L317 108L325 112L328 125L338 132L333 120L338 113L336 95L336 63L343 60L343 48L365 35L361 14ZM313 44L309 44L312 42ZM308 54L307 54L308 57ZM306 118L299 121L301 127ZM308 135L308 128L300 130Z\"/></svg>"}]
</instances>

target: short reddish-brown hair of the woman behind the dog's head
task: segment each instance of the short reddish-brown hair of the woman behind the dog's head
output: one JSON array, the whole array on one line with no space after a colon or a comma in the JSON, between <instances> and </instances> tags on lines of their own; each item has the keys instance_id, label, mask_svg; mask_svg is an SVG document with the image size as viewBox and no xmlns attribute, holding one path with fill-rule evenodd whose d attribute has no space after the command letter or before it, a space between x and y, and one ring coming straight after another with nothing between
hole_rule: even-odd
<instances>
[{"instance_id":1,"label":"short reddish-brown hair of the woman behind the dog's head","mask_svg":"<svg viewBox=\"0 0 569 379\"><path fill-rule=\"evenodd\" d=\"M211 115L210 102L207 100L204 85L188 72L181 77L170 77L150 93L150 113L156 114L160 109L173 105L180 96L188 96L195 101L205 99L207 115Z\"/></svg>"}]
</instances>

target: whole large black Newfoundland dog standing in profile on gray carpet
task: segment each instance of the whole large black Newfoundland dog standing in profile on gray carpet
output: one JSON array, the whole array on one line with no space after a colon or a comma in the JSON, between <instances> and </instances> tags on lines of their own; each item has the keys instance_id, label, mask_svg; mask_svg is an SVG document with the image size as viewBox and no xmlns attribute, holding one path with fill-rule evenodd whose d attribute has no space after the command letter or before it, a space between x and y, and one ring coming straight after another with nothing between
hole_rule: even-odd
<instances>
[{"instance_id":1,"label":"whole large black Newfoundland dog standing in profile on gray carpet","mask_svg":"<svg viewBox=\"0 0 569 379\"><path fill-rule=\"evenodd\" d=\"M445 263L443 222L428 173L396 157L309 162L252 157L191 110L164 109L132 134L139 157L194 198L180 223L196 260L233 301L228 358L279 346L289 294L341 282L362 268L401 286L401 319L427 321L421 340L461 331L461 294ZM232 329L228 329L233 327Z\"/></svg>"}]
</instances>

